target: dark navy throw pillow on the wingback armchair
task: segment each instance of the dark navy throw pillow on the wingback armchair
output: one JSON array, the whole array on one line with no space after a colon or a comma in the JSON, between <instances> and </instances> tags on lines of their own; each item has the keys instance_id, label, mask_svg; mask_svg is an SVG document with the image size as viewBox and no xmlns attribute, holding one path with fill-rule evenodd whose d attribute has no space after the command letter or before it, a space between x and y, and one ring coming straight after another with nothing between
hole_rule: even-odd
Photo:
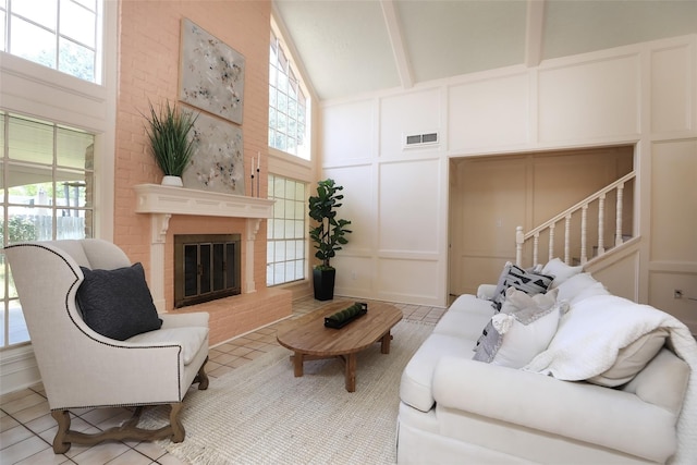
<instances>
[{"instance_id":1,"label":"dark navy throw pillow on the wingback armchair","mask_svg":"<svg viewBox=\"0 0 697 465\"><path fill-rule=\"evenodd\" d=\"M77 289L77 305L89 328L107 338L125 341L162 327L143 265L115 270L80 268L85 280Z\"/></svg>"}]
</instances>

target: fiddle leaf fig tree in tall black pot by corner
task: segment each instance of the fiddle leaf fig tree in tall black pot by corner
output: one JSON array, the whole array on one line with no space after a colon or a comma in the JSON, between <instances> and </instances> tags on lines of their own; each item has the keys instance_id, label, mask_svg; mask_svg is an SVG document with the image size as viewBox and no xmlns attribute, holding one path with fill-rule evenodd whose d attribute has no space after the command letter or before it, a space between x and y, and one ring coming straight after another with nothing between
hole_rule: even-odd
<instances>
[{"instance_id":1,"label":"fiddle leaf fig tree in tall black pot by corner","mask_svg":"<svg viewBox=\"0 0 697 465\"><path fill-rule=\"evenodd\" d=\"M351 221L337 218L337 209L342 205L340 200L344 198L340 191L343 186L327 179L317 183L317 195L309 197L309 217L317 222L309 230L309 237L317 249L315 257L321 261L313 269L315 298L318 301L334 298L337 270L330 260L342 245L348 243L346 234L352 232L346 229Z\"/></svg>"}]
</instances>

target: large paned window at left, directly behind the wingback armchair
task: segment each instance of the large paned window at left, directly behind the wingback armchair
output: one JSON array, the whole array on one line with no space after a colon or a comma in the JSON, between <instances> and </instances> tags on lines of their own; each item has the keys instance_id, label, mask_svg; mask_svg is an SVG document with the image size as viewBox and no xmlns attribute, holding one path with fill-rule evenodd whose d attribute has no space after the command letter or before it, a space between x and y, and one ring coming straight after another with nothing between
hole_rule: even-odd
<instances>
[{"instance_id":1,"label":"large paned window at left, directly behind the wingback armchair","mask_svg":"<svg viewBox=\"0 0 697 465\"><path fill-rule=\"evenodd\" d=\"M93 236L95 136L0 112L0 245ZM0 254L0 347L29 340Z\"/></svg>"}]
</instances>

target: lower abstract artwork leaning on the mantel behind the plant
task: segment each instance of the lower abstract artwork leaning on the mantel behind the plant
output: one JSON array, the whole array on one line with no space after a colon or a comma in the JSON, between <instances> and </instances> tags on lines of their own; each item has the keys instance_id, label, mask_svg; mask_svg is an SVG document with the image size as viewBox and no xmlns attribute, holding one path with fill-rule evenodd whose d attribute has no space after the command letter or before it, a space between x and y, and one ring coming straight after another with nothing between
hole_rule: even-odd
<instances>
[{"instance_id":1,"label":"lower abstract artwork leaning on the mantel behind the plant","mask_svg":"<svg viewBox=\"0 0 697 465\"><path fill-rule=\"evenodd\" d=\"M189 137L194 156L182 175L184 187L245 195L242 129L199 113Z\"/></svg>"}]
</instances>

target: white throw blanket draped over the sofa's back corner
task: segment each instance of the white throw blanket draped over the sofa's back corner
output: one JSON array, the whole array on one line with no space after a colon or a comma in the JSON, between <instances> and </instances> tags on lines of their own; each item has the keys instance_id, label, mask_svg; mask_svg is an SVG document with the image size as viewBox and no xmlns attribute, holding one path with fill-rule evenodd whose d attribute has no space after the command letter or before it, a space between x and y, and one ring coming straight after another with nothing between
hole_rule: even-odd
<instances>
[{"instance_id":1,"label":"white throw blanket draped over the sofa's back corner","mask_svg":"<svg viewBox=\"0 0 697 465\"><path fill-rule=\"evenodd\" d=\"M573 319L573 325L570 322ZM609 369L617 352L644 334L663 328L675 354L690 367L685 401L677 420L677 453L672 464L697 463L697 342L673 316L614 295L577 302L562 318L547 351L524 370L566 381L592 378Z\"/></svg>"}]
</instances>

